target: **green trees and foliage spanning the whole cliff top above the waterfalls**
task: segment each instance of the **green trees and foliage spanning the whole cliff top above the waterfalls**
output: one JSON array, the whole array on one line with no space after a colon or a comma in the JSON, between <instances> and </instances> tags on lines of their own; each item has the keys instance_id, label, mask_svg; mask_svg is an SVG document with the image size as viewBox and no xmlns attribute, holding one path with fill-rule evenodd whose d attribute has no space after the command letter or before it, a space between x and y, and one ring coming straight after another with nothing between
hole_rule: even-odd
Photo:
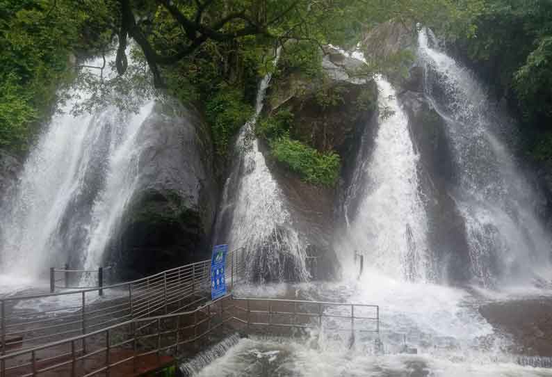
<instances>
[{"instance_id":1,"label":"green trees and foliage spanning the whole cliff top above the waterfalls","mask_svg":"<svg viewBox=\"0 0 552 377\"><path fill-rule=\"evenodd\" d=\"M455 41L496 93L516 104L530 125L535 157L550 159L551 138L542 137L552 124L546 0L0 0L0 147L25 152L55 109L56 91L79 68L72 54L111 51L127 85L83 80L82 86L99 98L109 86L124 91L153 82L202 104L224 159L252 113L259 77L274 70L278 46L275 77L293 70L314 77L320 62L313 51L329 43L351 47L389 19L409 29L420 22Z\"/></svg>"}]
</instances>

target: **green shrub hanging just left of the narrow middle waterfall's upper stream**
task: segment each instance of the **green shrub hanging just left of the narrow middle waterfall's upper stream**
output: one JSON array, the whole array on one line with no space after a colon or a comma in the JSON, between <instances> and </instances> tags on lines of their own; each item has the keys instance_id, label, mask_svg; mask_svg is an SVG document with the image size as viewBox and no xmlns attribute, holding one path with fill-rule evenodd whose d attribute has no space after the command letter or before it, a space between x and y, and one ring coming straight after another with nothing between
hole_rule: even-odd
<instances>
[{"instance_id":1,"label":"green shrub hanging just left of the narrow middle waterfall's upper stream","mask_svg":"<svg viewBox=\"0 0 552 377\"><path fill-rule=\"evenodd\" d=\"M226 157L230 139L253 115L253 108L243 100L241 90L220 86L205 105L207 120L211 125L215 150Z\"/></svg>"}]
</instances>

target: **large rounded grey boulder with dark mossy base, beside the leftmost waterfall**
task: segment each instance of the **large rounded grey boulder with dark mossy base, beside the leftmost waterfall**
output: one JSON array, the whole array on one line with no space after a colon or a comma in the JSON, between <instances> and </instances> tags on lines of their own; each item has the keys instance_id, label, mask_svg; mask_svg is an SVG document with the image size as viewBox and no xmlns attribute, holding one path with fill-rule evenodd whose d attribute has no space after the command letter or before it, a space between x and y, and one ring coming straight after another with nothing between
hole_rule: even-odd
<instances>
[{"instance_id":1,"label":"large rounded grey boulder with dark mossy base, beside the leftmost waterfall","mask_svg":"<svg viewBox=\"0 0 552 377\"><path fill-rule=\"evenodd\" d=\"M208 259L218 187L209 128L191 106L154 106L138 136L136 190L111 245L122 277Z\"/></svg>"}]
</instances>

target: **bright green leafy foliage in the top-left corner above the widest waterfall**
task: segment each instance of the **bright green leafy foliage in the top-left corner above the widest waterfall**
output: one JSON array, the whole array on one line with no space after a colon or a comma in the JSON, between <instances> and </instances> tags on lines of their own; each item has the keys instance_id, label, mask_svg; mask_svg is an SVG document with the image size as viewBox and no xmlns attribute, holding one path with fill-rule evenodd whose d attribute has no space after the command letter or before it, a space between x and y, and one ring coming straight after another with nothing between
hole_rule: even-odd
<instances>
[{"instance_id":1,"label":"bright green leafy foliage in the top-left corner above the widest waterfall","mask_svg":"<svg viewBox=\"0 0 552 377\"><path fill-rule=\"evenodd\" d=\"M71 77L70 54L99 43L90 26L106 12L85 12L70 0L0 0L0 147L26 150Z\"/></svg>"}]
</instances>

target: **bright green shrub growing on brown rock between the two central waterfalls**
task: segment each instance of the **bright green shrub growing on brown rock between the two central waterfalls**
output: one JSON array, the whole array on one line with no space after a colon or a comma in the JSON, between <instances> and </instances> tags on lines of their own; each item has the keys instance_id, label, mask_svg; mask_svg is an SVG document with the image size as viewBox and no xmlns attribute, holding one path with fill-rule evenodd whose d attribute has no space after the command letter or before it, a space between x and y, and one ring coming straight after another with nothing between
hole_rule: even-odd
<instances>
[{"instance_id":1,"label":"bright green shrub growing on brown rock between the two central waterfalls","mask_svg":"<svg viewBox=\"0 0 552 377\"><path fill-rule=\"evenodd\" d=\"M341 162L335 152L320 153L312 147L291 140L289 135L270 142L272 156L298 173L305 182L334 186L339 177Z\"/></svg>"}]
</instances>

